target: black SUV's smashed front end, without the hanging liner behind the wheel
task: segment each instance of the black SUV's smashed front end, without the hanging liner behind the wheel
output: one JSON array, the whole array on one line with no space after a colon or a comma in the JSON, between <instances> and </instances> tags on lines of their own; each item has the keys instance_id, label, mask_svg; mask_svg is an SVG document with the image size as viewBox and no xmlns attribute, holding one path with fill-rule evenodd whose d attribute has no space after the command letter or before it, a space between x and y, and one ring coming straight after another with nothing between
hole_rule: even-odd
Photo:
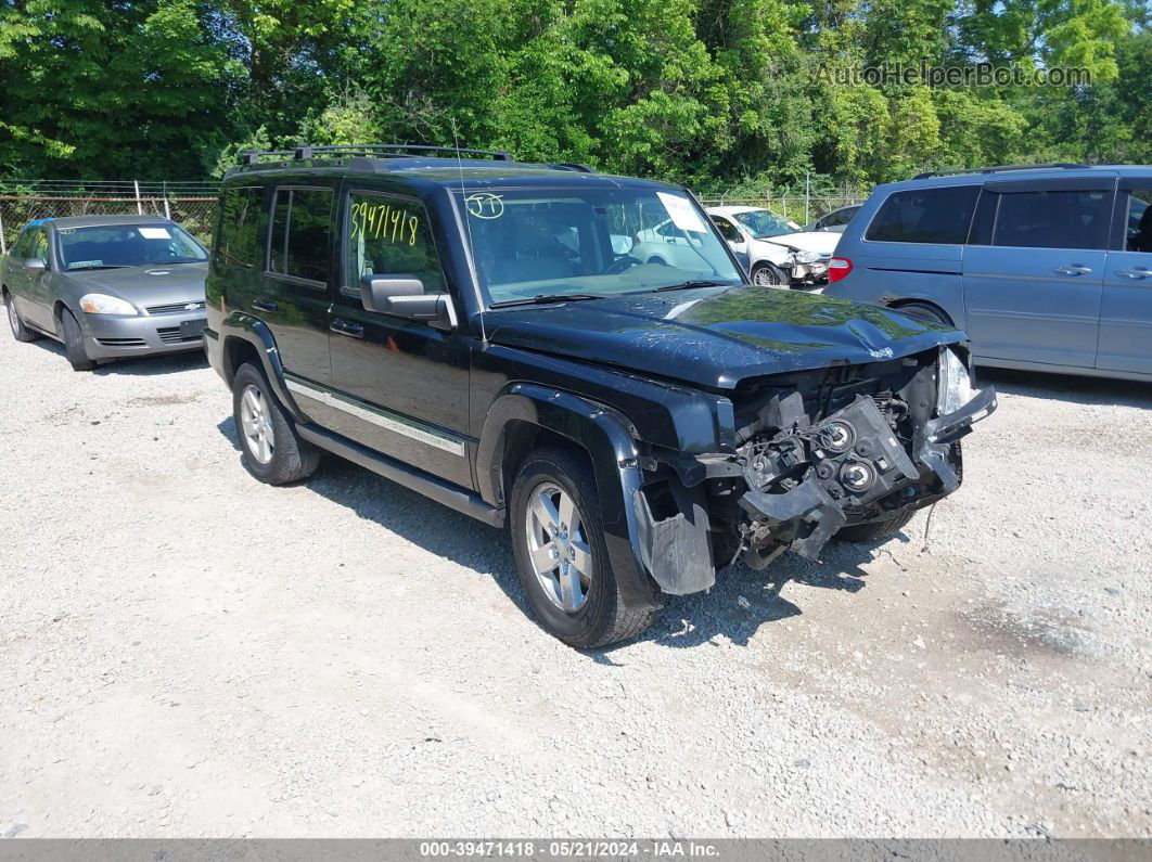
<instances>
[{"instance_id":1,"label":"black SUV's smashed front end, without the hanging liner behind the wheel","mask_svg":"<svg viewBox=\"0 0 1152 862\"><path fill-rule=\"evenodd\" d=\"M954 491L957 441L995 410L953 346L801 381L767 381L737 450L737 554L763 569L786 549L810 559L843 527L893 519ZM775 390L775 391L773 391ZM737 413L740 415L740 413Z\"/></svg>"}]
</instances>

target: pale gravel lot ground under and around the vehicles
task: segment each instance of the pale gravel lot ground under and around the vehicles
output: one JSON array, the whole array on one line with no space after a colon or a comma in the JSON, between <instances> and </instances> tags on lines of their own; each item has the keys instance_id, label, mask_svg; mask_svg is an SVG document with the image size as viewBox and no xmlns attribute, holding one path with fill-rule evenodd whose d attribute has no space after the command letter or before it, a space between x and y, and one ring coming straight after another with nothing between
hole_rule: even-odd
<instances>
[{"instance_id":1,"label":"pale gravel lot ground under and around the vehicles","mask_svg":"<svg viewBox=\"0 0 1152 862\"><path fill-rule=\"evenodd\" d=\"M506 534L255 481L198 356L5 333L0 834L1152 836L1152 386L986 376L926 543L584 654Z\"/></svg>"}]
</instances>

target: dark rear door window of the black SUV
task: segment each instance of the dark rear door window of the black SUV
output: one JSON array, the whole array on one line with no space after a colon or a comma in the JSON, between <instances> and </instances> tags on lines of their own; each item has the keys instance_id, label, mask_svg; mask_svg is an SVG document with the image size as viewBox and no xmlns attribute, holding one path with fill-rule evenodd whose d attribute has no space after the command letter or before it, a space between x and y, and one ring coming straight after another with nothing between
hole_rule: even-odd
<instances>
[{"instance_id":1,"label":"dark rear door window of the black SUV","mask_svg":"<svg viewBox=\"0 0 1152 862\"><path fill-rule=\"evenodd\" d=\"M327 283L332 189L276 189L268 269Z\"/></svg>"}]
</instances>

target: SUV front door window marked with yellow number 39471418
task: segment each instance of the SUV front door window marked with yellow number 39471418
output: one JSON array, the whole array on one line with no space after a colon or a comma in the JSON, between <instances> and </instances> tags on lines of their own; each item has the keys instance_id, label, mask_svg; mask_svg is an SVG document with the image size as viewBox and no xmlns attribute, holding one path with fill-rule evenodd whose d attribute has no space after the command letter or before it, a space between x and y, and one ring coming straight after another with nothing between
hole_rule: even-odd
<instances>
[{"instance_id":1,"label":"SUV front door window marked with yellow number 39471418","mask_svg":"<svg viewBox=\"0 0 1152 862\"><path fill-rule=\"evenodd\" d=\"M379 194L349 194L344 254L347 290L358 291L365 275L409 275L425 293L444 293L444 273L424 207Z\"/></svg>"}]
</instances>

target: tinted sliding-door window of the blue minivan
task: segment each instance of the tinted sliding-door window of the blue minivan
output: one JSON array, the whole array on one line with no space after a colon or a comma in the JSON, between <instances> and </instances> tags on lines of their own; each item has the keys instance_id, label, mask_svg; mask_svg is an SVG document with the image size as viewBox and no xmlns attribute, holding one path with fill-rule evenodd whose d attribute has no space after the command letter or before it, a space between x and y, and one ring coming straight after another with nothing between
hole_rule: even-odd
<instances>
[{"instance_id":1,"label":"tinted sliding-door window of the blue minivan","mask_svg":"<svg viewBox=\"0 0 1152 862\"><path fill-rule=\"evenodd\" d=\"M992 244L1023 249L1104 249L1112 192L1001 192Z\"/></svg>"}]
</instances>

